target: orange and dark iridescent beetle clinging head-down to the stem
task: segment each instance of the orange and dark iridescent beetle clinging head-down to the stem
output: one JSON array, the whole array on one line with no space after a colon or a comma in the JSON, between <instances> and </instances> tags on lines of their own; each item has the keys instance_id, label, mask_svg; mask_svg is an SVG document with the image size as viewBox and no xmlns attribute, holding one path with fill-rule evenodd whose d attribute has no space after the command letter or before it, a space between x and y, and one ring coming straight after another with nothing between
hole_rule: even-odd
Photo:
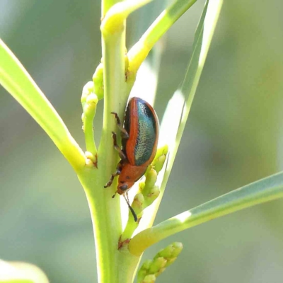
<instances>
[{"instance_id":1,"label":"orange and dark iridescent beetle clinging head-down to the stem","mask_svg":"<svg viewBox=\"0 0 283 283\"><path fill-rule=\"evenodd\" d=\"M112 173L104 187L110 187L115 176L119 175L117 193L125 197L134 221L137 221L137 215L129 204L127 192L144 175L154 160L159 134L158 117L149 103L137 97L129 100L123 125L116 112L111 114L115 115L117 127L121 131L122 149L117 144L116 133L112 132L114 147L121 160L117 164L116 172Z\"/></svg>"}]
</instances>

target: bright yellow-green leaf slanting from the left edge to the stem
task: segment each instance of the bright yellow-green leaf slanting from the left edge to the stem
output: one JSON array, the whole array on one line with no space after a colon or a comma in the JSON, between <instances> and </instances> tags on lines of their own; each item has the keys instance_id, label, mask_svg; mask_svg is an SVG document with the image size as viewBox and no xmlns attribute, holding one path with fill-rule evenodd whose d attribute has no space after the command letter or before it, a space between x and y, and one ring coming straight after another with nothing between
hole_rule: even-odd
<instances>
[{"instance_id":1,"label":"bright yellow-green leaf slanting from the left edge to the stem","mask_svg":"<svg viewBox=\"0 0 283 283\"><path fill-rule=\"evenodd\" d=\"M76 143L59 114L47 100L21 62L0 40L0 83L45 130L59 151L76 172L86 163L83 151ZM12 127L12 126L11 126Z\"/></svg>"}]
</instances>

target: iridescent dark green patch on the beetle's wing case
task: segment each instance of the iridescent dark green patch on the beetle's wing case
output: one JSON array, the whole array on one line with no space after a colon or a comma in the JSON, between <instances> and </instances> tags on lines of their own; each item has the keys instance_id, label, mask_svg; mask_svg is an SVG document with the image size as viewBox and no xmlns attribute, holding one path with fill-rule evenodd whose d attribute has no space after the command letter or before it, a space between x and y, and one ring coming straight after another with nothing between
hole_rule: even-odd
<instances>
[{"instance_id":1,"label":"iridescent dark green patch on the beetle's wing case","mask_svg":"<svg viewBox=\"0 0 283 283\"><path fill-rule=\"evenodd\" d=\"M143 100L137 100L138 131L134 147L135 164L141 166L149 160L156 140L156 121L151 109Z\"/></svg>"}]
</instances>

